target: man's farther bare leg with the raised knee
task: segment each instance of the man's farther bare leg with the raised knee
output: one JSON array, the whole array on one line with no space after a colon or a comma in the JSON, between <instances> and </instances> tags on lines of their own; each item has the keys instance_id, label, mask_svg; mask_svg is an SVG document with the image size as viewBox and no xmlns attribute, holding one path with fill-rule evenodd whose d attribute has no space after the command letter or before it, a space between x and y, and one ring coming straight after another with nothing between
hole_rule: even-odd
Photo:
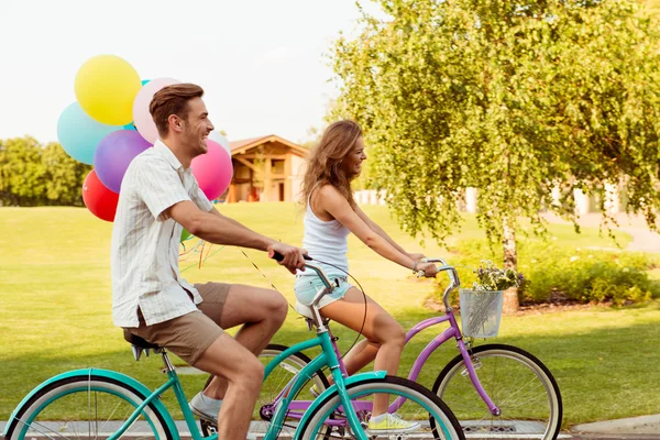
<instances>
[{"instance_id":1,"label":"man's farther bare leg with the raised knee","mask_svg":"<svg viewBox=\"0 0 660 440\"><path fill-rule=\"evenodd\" d=\"M234 339L256 356L282 327L288 302L275 290L234 284L227 294L220 316L213 315L211 301L205 300L198 307L223 329L243 324ZM216 375L204 394L215 399L223 399L224 406L228 382L231 381L222 376Z\"/></svg>"}]
</instances>

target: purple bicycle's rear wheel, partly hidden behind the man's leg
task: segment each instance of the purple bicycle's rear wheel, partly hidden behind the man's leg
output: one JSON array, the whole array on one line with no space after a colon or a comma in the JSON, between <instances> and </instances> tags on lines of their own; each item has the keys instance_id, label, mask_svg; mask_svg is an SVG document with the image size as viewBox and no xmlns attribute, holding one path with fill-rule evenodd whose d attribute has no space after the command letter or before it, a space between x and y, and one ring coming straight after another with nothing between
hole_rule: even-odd
<instances>
[{"instance_id":1,"label":"purple bicycle's rear wheel, partly hidden behind the man's leg","mask_svg":"<svg viewBox=\"0 0 660 440\"><path fill-rule=\"evenodd\" d=\"M268 344L258 355L258 360L265 366L273 359L277 358L283 351L287 350L288 346L280 344ZM268 375L264 384L262 385L262 389L260 392L258 398L256 400L256 405L254 406L254 413L252 414L253 420L264 420L266 424L270 422L271 417L275 410L272 405L277 398L278 394L284 389L284 387L289 383L292 378L296 374L300 372L311 360L305 355L305 353L294 353L289 358L285 359L280 362L273 372ZM211 378L210 376L205 385L208 386ZM329 383L328 378L322 372L317 372L309 381L306 383L296 399L298 400L314 400L315 396L309 393L309 388L315 385L319 393L322 393L326 388L328 388ZM305 413L304 409L290 410L285 422L285 426L282 428L283 432L294 433L295 428L297 426L297 421L302 417ZM201 432L205 436L209 436L217 428L215 424L211 424L207 420L200 420Z\"/></svg>"}]
</instances>

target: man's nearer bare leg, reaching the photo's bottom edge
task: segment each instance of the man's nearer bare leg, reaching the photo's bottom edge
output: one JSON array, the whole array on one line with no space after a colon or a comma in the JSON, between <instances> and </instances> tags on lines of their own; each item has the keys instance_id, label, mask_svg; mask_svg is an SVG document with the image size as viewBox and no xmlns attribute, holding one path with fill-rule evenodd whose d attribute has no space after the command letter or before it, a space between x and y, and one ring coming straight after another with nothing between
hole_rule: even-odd
<instances>
[{"instance_id":1,"label":"man's nearer bare leg, reaching the photo's bottom edge","mask_svg":"<svg viewBox=\"0 0 660 440\"><path fill-rule=\"evenodd\" d=\"M264 377L261 362L229 334L222 333L194 366L221 375L228 385L218 415L218 438L245 440Z\"/></svg>"}]
</instances>

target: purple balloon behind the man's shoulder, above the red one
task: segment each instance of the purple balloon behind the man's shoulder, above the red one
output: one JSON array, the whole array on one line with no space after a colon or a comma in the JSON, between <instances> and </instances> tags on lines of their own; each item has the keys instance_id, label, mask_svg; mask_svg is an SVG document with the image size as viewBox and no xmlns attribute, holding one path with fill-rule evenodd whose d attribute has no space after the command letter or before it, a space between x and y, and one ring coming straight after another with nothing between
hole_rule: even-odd
<instances>
[{"instance_id":1,"label":"purple balloon behind the man's shoulder, above the red one","mask_svg":"<svg viewBox=\"0 0 660 440\"><path fill-rule=\"evenodd\" d=\"M140 133L119 130L99 142L94 154L94 166L99 180L111 191L119 193L121 180L131 161L152 146Z\"/></svg>"}]
</instances>

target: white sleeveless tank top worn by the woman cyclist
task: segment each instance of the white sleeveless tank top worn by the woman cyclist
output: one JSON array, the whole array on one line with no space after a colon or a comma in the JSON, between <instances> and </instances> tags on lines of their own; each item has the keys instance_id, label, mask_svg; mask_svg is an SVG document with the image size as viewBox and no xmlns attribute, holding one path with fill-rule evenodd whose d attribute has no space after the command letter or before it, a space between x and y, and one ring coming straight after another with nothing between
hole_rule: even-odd
<instances>
[{"instance_id":1,"label":"white sleeveless tank top worn by the woman cyclist","mask_svg":"<svg viewBox=\"0 0 660 440\"><path fill-rule=\"evenodd\" d=\"M311 193L316 189L312 188ZM323 262L331 263L343 271L349 272L349 258L346 252L349 251L348 237L351 231L339 220L323 221L316 217L311 210L311 193L307 198L307 210L305 212L305 232L302 235L302 248L305 248L309 256L315 260L321 260ZM326 274L343 275L341 271L336 267L329 266L323 263L318 263L319 266L326 272ZM311 271L299 273L301 275L314 275Z\"/></svg>"}]
</instances>

